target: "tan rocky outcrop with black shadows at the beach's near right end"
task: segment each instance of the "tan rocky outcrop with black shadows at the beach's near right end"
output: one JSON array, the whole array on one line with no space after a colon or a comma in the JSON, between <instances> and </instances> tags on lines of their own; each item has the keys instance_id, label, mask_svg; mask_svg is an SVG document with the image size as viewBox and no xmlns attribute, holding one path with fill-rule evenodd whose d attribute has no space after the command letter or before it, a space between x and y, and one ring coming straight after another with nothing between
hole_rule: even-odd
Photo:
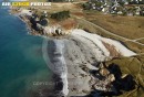
<instances>
[{"instance_id":1,"label":"tan rocky outcrop with black shadows at the beach's near right end","mask_svg":"<svg viewBox=\"0 0 144 97\"><path fill-rule=\"evenodd\" d=\"M91 72L93 74L94 93L91 97L97 96L119 96L122 90L130 91L135 88L135 82L132 75L127 74L122 77L121 69L116 64L110 64L99 71Z\"/></svg>"}]
</instances>

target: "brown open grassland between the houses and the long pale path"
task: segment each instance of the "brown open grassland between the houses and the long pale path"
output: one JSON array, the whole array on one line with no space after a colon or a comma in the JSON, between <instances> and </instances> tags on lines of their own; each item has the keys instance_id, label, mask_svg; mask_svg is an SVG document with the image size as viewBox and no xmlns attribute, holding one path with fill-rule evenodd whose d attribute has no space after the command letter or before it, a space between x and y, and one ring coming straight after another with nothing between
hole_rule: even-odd
<instances>
[{"instance_id":1,"label":"brown open grassland between the houses and the long pale path","mask_svg":"<svg viewBox=\"0 0 144 97\"><path fill-rule=\"evenodd\" d=\"M132 40L144 36L144 17L122 17L92 11L85 14L86 20L117 35Z\"/></svg>"}]
</instances>

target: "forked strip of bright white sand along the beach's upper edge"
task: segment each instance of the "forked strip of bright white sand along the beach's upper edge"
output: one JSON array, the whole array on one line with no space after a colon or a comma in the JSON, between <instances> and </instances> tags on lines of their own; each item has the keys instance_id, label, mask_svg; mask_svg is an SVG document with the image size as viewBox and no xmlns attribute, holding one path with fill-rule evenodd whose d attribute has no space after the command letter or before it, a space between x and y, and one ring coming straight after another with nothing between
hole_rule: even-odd
<instances>
[{"instance_id":1,"label":"forked strip of bright white sand along the beach's upper edge","mask_svg":"<svg viewBox=\"0 0 144 97\"><path fill-rule=\"evenodd\" d=\"M119 41L102 37L97 34L88 33L83 30L73 30L72 35L79 35L79 36L82 36L82 37L85 37L85 39L92 41L95 45L97 45L101 48L101 51L103 51L103 53L107 57L110 56L110 52L102 42L113 45L115 47L115 50L123 56L136 55L134 52L130 51L124 45L122 45Z\"/></svg>"}]
</instances>

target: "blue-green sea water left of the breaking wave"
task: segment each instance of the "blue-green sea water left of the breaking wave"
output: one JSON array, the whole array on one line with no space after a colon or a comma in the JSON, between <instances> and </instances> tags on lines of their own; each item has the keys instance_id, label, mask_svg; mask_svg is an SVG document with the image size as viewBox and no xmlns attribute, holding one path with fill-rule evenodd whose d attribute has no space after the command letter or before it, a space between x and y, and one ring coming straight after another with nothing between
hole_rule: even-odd
<instances>
[{"instance_id":1,"label":"blue-green sea water left of the breaking wave","mask_svg":"<svg viewBox=\"0 0 144 97\"><path fill-rule=\"evenodd\" d=\"M35 82L50 80L42 41L29 35L19 18L0 9L0 97L30 97L39 88Z\"/></svg>"}]
</instances>

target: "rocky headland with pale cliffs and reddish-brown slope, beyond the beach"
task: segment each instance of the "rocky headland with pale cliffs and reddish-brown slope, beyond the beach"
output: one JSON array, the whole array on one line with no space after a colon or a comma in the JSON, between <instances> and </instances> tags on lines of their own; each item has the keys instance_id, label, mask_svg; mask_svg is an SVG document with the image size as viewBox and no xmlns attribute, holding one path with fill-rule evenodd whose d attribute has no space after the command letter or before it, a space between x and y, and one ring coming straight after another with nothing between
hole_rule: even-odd
<instances>
[{"instance_id":1,"label":"rocky headland with pale cliffs and reddish-brown slope, beyond the beach","mask_svg":"<svg viewBox=\"0 0 144 97\"><path fill-rule=\"evenodd\" d=\"M29 34L31 35L41 35L41 36L61 39L69 35L71 31L78 26L76 21L71 18L64 21L45 19L49 24L42 25L40 23L40 20L35 18L35 14L31 10L19 9L19 11L17 12L18 13L14 14L27 24L30 32Z\"/></svg>"}]
</instances>

